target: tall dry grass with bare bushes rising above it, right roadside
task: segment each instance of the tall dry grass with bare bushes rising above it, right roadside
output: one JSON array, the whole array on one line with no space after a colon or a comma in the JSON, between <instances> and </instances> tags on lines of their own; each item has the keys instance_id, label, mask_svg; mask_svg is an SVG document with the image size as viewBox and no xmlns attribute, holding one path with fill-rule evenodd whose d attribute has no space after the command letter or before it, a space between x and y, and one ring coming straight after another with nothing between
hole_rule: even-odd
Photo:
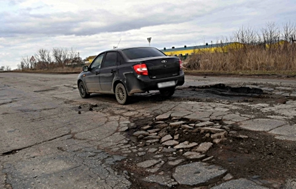
<instances>
[{"instance_id":1,"label":"tall dry grass with bare bushes rising above it, right roadside","mask_svg":"<svg viewBox=\"0 0 296 189\"><path fill-rule=\"evenodd\" d=\"M221 48L214 52L194 50L184 60L189 73L296 73L296 25L283 24L280 29L275 23L267 23L265 28L255 30L241 27L230 40L237 42L232 48Z\"/></svg>"}]
</instances>

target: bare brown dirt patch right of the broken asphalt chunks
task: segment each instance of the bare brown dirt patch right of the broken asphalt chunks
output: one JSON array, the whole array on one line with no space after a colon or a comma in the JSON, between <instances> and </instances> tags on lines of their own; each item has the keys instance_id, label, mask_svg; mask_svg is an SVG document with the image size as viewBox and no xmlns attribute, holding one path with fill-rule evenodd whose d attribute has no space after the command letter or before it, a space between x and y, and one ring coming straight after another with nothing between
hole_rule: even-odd
<instances>
[{"instance_id":1,"label":"bare brown dirt patch right of the broken asphalt chunks","mask_svg":"<svg viewBox=\"0 0 296 189\"><path fill-rule=\"evenodd\" d=\"M214 163L228 169L235 178L274 180L284 183L296 172L296 144L275 139L265 132L236 129L248 139L228 137L208 151L214 155Z\"/></svg>"}]
</instances>

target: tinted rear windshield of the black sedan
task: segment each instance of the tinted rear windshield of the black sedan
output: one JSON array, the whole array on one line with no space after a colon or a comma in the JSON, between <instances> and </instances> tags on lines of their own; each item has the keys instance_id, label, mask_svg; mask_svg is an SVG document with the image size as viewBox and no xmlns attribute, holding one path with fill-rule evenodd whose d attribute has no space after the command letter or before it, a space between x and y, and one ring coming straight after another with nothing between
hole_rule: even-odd
<instances>
[{"instance_id":1,"label":"tinted rear windshield of the black sedan","mask_svg":"<svg viewBox=\"0 0 296 189\"><path fill-rule=\"evenodd\" d=\"M138 58L166 56L161 51L155 48L148 48L148 47L125 49L122 51L130 60L138 59Z\"/></svg>"}]
</instances>

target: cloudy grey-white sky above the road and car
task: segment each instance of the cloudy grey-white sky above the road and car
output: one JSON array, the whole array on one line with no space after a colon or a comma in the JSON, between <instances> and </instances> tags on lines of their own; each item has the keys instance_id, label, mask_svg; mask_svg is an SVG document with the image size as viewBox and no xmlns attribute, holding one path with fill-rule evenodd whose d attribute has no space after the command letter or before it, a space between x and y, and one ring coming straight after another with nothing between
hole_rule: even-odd
<instances>
[{"instance_id":1,"label":"cloudy grey-white sky above the road and car","mask_svg":"<svg viewBox=\"0 0 296 189\"><path fill-rule=\"evenodd\" d=\"M296 18L296 0L0 0L0 66L17 68L40 48L112 49L214 43L241 26Z\"/></svg>"}]
</instances>

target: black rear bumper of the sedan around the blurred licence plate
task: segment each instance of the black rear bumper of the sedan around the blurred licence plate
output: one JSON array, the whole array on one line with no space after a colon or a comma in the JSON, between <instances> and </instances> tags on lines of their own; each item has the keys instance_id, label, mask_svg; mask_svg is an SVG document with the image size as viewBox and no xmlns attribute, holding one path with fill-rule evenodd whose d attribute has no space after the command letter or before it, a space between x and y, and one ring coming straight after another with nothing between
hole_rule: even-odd
<instances>
[{"instance_id":1,"label":"black rear bumper of the sedan around the blurred licence plate","mask_svg":"<svg viewBox=\"0 0 296 189\"><path fill-rule=\"evenodd\" d=\"M136 77L130 78L132 81L127 81L127 92L129 95L134 93L147 92L150 90L159 90L158 83L175 81L175 86L181 86L184 84L184 72L181 70L180 74L175 77L161 78L161 79L150 79L146 75L137 75Z\"/></svg>"}]
</instances>

